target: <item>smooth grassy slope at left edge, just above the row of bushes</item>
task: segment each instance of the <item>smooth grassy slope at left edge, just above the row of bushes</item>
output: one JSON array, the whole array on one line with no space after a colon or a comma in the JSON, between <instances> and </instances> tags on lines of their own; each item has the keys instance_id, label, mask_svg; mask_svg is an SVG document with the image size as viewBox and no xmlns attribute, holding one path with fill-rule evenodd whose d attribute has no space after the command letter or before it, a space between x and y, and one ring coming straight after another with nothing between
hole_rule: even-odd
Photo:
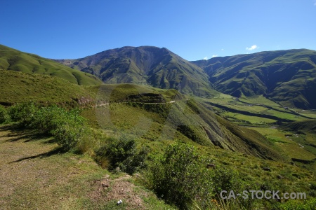
<instances>
[{"instance_id":1,"label":"smooth grassy slope at left edge, just above the row of bushes","mask_svg":"<svg viewBox=\"0 0 316 210\"><path fill-rule=\"evenodd\" d=\"M0 104L4 105L22 102L83 105L93 103L96 95L92 88L55 76L7 70L0 70L0 90Z\"/></svg>"}]
</instances>

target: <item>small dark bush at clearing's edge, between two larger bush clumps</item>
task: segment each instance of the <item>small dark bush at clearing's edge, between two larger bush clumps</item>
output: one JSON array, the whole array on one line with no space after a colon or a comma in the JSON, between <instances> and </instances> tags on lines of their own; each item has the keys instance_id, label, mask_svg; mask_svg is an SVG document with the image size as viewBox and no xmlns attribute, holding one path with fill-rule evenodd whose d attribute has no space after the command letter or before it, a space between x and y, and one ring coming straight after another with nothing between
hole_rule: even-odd
<instances>
[{"instance_id":1,"label":"small dark bush at clearing's edge, between two larger bush clumps","mask_svg":"<svg viewBox=\"0 0 316 210\"><path fill-rule=\"evenodd\" d=\"M145 158L147 149L136 146L135 139L121 137L120 139L110 138L106 146L103 146L96 151L99 162L101 160L109 160L109 170L114 170L119 167L122 172L133 174L138 169L145 167Z\"/></svg>"}]
</instances>

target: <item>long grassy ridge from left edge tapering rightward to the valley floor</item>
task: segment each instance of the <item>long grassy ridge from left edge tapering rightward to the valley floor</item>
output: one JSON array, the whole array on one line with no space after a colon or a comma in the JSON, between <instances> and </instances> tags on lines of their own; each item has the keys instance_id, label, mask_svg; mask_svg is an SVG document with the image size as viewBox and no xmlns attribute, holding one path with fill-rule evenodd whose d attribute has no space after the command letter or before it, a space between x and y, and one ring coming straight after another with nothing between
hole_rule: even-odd
<instances>
[{"instance_id":1,"label":"long grassy ridge from left edge tapering rightward to the valley floor","mask_svg":"<svg viewBox=\"0 0 316 210\"><path fill-rule=\"evenodd\" d=\"M104 126L107 130L119 128L121 132L126 132L126 129L135 126L133 129L140 133L151 131L142 136L144 139L173 140L176 137L260 158L279 159L270 148L272 145L261 134L251 132L251 135L244 135L250 131L220 119L202 104L187 100L177 90L135 84L85 87L37 73L7 70L0 70L0 73L0 104L38 102L45 106L88 107L97 104L93 109L86 110L86 117L94 119L94 125ZM98 106L107 103L110 105ZM110 112L110 117L104 116L104 112ZM105 119L110 122L103 122Z\"/></svg>"}]
</instances>

